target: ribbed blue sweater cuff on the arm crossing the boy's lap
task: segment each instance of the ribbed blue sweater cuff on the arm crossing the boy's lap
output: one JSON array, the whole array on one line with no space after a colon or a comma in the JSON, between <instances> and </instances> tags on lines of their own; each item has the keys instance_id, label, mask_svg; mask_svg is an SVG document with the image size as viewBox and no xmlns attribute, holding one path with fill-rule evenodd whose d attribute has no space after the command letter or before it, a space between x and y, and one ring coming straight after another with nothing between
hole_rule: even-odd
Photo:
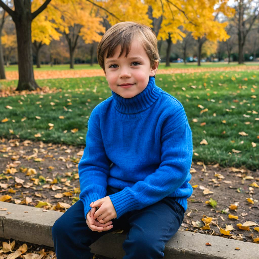
<instances>
[{"instance_id":1,"label":"ribbed blue sweater cuff on the arm crossing the boy's lap","mask_svg":"<svg viewBox=\"0 0 259 259\"><path fill-rule=\"evenodd\" d=\"M139 202L132 196L130 188L109 195L117 213L117 219L128 211L138 210Z\"/></svg>"}]
</instances>

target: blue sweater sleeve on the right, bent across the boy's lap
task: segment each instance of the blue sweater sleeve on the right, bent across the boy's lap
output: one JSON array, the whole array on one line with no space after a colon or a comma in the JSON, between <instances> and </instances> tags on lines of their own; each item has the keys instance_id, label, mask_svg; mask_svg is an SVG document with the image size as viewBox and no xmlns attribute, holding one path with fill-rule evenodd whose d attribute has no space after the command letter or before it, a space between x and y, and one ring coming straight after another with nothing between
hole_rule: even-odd
<instances>
[{"instance_id":1,"label":"blue sweater sleeve on the right, bent across the boy's lap","mask_svg":"<svg viewBox=\"0 0 259 259\"><path fill-rule=\"evenodd\" d=\"M143 181L109 195L117 218L128 211L152 205L171 193L184 196L177 190L190 178L192 161L192 132L185 117L181 125L161 133L161 164ZM171 124L172 125L172 124ZM172 126L171 126L172 127ZM166 133L165 133L166 132ZM189 180L189 179L188 179Z\"/></svg>"}]
</instances>

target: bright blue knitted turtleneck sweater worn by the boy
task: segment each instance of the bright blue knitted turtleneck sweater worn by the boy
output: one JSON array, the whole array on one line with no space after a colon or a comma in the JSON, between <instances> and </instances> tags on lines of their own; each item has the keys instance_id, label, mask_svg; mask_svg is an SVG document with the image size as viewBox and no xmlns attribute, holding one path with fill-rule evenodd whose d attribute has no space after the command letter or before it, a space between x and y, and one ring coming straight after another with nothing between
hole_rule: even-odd
<instances>
[{"instance_id":1,"label":"bright blue knitted turtleneck sweater worn by the boy","mask_svg":"<svg viewBox=\"0 0 259 259\"><path fill-rule=\"evenodd\" d=\"M106 196L107 185L121 189L109 195L117 218L167 196L186 211L191 161L192 132L184 108L156 86L154 77L132 98L112 91L91 113L78 164L85 217L90 203Z\"/></svg>"}]
</instances>

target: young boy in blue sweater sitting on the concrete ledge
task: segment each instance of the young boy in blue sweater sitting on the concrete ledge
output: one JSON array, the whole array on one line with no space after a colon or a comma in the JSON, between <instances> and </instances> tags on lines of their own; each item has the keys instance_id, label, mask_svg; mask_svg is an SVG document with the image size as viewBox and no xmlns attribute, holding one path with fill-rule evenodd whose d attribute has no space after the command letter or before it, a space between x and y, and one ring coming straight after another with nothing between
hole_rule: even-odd
<instances>
[{"instance_id":1,"label":"young boy in blue sweater sitting on the concrete ledge","mask_svg":"<svg viewBox=\"0 0 259 259\"><path fill-rule=\"evenodd\" d=\"M163 258L192 194L192 132L182 104L156 86L149 27L112 26L97 57L112 96L88 120L80 200L52 227L57 259L91 258L89 246L116 229L128 231L124 259Z\"/></svg>"}]
</instances>

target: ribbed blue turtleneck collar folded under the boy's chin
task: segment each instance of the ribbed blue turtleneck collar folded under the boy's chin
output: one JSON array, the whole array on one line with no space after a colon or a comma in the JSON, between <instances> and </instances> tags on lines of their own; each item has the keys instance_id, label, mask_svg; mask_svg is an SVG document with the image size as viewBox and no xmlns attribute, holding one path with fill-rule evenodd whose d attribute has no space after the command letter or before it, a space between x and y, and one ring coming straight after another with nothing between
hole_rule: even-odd
<instances>
[{"instance_id":1,"label":"ribbed blue turtleneck collar folded under the boy's chin","mask_svg":"<svg viewBox=\"0 0 259 259\"><path fill-rule=\"evenodd\" d=\"M156 86L155 78L149 77L147 87L132 98L124 98L112 91L115 108L119 112L133 114L146 110L159 97L161 88Z\"/></svg>"}]
</instances>

